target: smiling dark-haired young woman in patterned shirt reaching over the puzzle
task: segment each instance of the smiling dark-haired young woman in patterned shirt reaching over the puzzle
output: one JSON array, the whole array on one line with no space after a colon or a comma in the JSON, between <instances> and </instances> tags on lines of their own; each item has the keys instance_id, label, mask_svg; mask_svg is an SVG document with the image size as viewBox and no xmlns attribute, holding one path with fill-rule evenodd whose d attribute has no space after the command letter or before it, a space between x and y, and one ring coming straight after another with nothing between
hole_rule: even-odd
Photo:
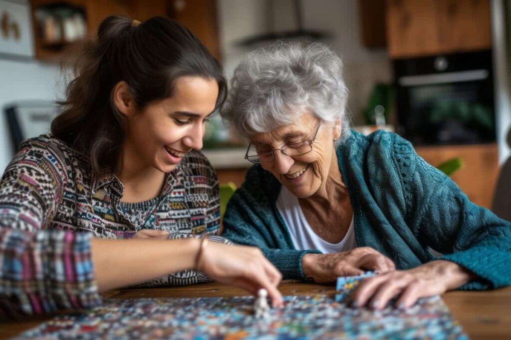
<instances>
[{"instance_id":1,"label":"smiling dark-haired young woman in patterned shirt reaching over the puzzle","mask_svg":"<svg viewBox=\"0 0 511 340\"><path fill-rule=\"evenodd\" d=\"M261 251L208 243L218 181L197 150L226 83L197 38L170 19L109 17L74 71L52 134L22 143L0 183L3 309L90 307L162 275L264 287L280 304Z\"/></svg>"}]
</instances>

